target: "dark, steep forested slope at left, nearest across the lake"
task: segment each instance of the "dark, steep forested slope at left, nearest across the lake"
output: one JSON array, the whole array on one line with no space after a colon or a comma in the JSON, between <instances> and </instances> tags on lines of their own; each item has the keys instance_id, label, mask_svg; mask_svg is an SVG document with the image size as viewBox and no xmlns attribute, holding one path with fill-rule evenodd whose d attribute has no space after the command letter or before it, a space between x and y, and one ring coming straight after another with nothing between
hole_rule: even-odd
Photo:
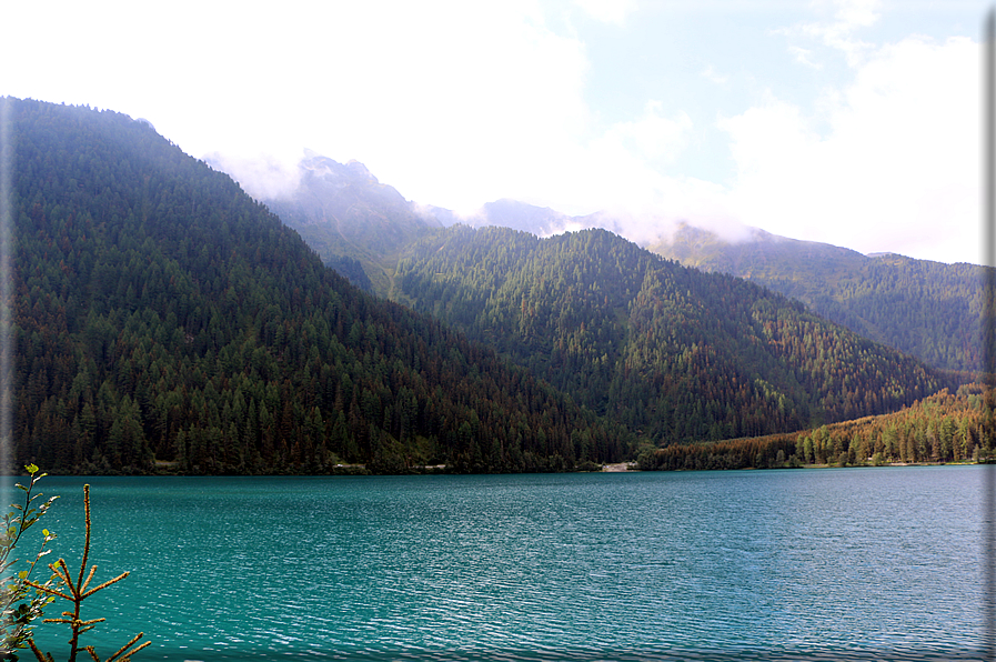
<instances>
[{"instance_id":1,"label":"dark, steep forested slope at left, nearest across the lake","mask_svg":"<svg viewBox=\"0 0 996 662\"><path fill-rule=\"evenodd\" d=\"M144 122L16 99L14 467L463 470L618 461L630 435L325 268Z\"/></svg>"}]
</instances>

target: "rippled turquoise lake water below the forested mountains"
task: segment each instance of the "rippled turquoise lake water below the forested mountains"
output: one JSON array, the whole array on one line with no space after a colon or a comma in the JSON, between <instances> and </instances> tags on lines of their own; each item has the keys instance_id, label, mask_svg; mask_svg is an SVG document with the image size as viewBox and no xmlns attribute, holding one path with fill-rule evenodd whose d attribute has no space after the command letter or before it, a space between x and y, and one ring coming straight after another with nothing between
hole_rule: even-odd
<instances>
[{"instance_id":1,"label":"rippled turquoise lake water below the forested mountains","mask_svg":"<svg viewBox=\"0 0 996 662\"><path fill-rule=\"evenodd\" d=\"M79 566L89 482L97 580L132 572L84 603L108 618L84 635L102 656L142 631L137 661L947 660L979 658L985 475L41 485L62 496L44 522L54 554ZM66 659L57 628L38 640Z\"/></svg>"}]
</instances>

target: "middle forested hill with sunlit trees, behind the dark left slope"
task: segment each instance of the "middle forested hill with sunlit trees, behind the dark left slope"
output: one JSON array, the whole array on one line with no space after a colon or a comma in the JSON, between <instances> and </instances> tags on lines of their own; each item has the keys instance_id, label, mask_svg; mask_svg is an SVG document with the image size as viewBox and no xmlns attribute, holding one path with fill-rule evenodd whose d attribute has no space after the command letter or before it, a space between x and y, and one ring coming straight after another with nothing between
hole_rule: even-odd
<instances>
[{"instance_id":1,"label":"middle forested hill with sunlit trees, behind the dark left slope","mask_svg":"<svg viewBox=\"0 0 996 662\"><path fill-rule=\"evenodd\" d=\"M449 228L410 249L395 289L657 444L884 413L940 387L797 301L605 230Z\"/></svg>"}]
</instances>

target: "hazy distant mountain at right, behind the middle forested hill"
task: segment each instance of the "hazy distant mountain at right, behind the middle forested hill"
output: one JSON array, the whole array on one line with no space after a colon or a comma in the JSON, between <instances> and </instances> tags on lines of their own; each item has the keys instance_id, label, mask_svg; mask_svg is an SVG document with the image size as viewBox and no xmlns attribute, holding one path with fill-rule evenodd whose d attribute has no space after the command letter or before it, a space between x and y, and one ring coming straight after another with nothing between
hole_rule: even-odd
<instances>
[{"instance_id":1,"label":"hazy distant mountain at right, behind the middle forested hill","mask_svg":"<svg viewBox=\"0 0 996 662\"><path fill-rule=\"evenodd\" d=\"M816 314L936 368L982 370L982 267L863 255L757 229L747 240L731 242L683 225L647 248L798 299Z\"/></svg>"}]
</instances>

